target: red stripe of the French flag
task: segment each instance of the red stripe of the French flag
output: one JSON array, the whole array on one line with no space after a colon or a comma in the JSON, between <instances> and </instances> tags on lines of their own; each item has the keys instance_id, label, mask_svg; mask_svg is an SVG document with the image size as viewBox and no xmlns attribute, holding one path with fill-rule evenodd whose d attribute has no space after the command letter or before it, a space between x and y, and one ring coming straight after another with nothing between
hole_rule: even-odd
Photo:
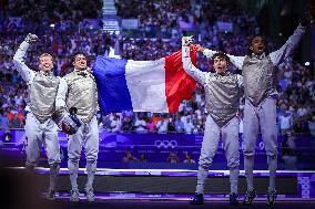
<instances>
[{"instance_id":1,"label":"red stripe of the French flag","mask_svg":"<svg viewBox=\"0 0 315 209\"><path fill-rule=\"evenodd\" d=\"M196 53L191 50L192 63L196 64ZM165 58L165 91L169 113L176 113L181 101L190 100L195 81L183 69L182 51Z\"/></svg>"}]
</instances>

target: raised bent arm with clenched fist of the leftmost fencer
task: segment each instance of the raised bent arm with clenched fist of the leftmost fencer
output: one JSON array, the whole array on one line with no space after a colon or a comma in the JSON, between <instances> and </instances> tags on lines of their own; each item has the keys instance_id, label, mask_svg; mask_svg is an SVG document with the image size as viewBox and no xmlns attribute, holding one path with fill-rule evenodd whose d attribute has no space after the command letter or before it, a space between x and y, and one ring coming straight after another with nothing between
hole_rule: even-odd
<instances>
[{"instance_id":1,"label":"raised bent arm with clenched fist of the leftmost fencer","mask_svg":"<svg viewBox=\"0 0 315 209\"><path fill-rule=\"evenodd\" d=\"M13 56L13 63L17 67L18 72L22 76L26 82L32 81L35 72L30 70L28 65L24 63L24 56L29 49L30 42L37 41L38 36L35 34L29 33L24 41L20 44L19 49L17 50Z\"/></svg>"}]
</instances>

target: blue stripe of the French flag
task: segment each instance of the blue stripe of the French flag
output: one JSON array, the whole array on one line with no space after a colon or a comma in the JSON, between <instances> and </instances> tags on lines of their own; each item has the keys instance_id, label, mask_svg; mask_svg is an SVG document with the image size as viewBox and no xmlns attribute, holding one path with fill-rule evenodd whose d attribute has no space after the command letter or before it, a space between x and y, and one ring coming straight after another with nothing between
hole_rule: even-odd
<instances>
[{"instance_id":1,"label":"blue stripe of the French flag","mask_svg":"<svg viewBox=\"0 0 315 209\"><path fill-rule=\"evenodd\" d=\"M125 80L126 60L98 56L93 74L99 88L99 105L104 114L132 111Z\"/></svg>"}]
</instances>

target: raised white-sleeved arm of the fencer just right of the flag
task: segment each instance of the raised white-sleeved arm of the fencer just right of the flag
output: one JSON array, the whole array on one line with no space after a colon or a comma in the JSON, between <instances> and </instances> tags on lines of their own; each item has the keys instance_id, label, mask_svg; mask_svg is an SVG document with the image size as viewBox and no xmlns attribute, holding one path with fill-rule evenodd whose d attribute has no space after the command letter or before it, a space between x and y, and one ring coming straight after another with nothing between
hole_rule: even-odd
<instances>
[{"instance_id":1,"label":"raised white-sleeved arm of the fencer just right of the flag","mask_svg":"<svg viewBox=\"0 0 315 209\"><path fill-rule=\"evenodd\" d=\"M182 62L184 71L191 75L196 82L201 83L202 85L205 84L206 73L196 69L191 60L190 56L190 46L189 46L189 36L182 38Z\"/></svg>"}]
</instances>

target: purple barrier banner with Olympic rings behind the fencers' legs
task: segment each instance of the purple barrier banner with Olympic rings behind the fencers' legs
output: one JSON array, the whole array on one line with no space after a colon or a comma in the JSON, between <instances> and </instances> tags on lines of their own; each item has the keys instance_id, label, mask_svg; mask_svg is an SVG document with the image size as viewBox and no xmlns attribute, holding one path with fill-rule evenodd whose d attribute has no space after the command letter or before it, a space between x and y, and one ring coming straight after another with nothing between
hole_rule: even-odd
<instances>
[{"instance_id":1,"label":"purple barrier banner with Olympic rings behind the fencers' legs","mask_svg":"<svg viewBox=\"0 0 315 209\"><path fill-rule=\"evenodd\" d=\"M11 130L13 139L11 144L0 145L0 154L7 156L21 157L23 154L24 130ZM99 161L122 161L126 150L139 158L141 154L146 156L148 161L166 163L170 153L175 153L183 163L185 154L190 153L192 158L197 163L201 151L203 135L201 134L135 134L135 133L100 133L100 153ZM59 133L59 142L63 153L63 159L67 158L68 139L64 133ZM278 137L278 153L281 160L281 143L283 137ZM301 150L302 156L298 157L301 165L312 167L314 161L315 140L311 135L297 135L296 146ZM243 139L240 137L240 155L243 161ZM44 149L42 148L44 153ZM266 169L265 146L261 135L257 137L255 150L255 165L262 169ZM84 160L82 151L82 160ZM214 157L214 166L226 166L225 153L222 142L219 143L219 148ZM312 167L314 169L314 166Z\"/></svg>"}]
</instances>

